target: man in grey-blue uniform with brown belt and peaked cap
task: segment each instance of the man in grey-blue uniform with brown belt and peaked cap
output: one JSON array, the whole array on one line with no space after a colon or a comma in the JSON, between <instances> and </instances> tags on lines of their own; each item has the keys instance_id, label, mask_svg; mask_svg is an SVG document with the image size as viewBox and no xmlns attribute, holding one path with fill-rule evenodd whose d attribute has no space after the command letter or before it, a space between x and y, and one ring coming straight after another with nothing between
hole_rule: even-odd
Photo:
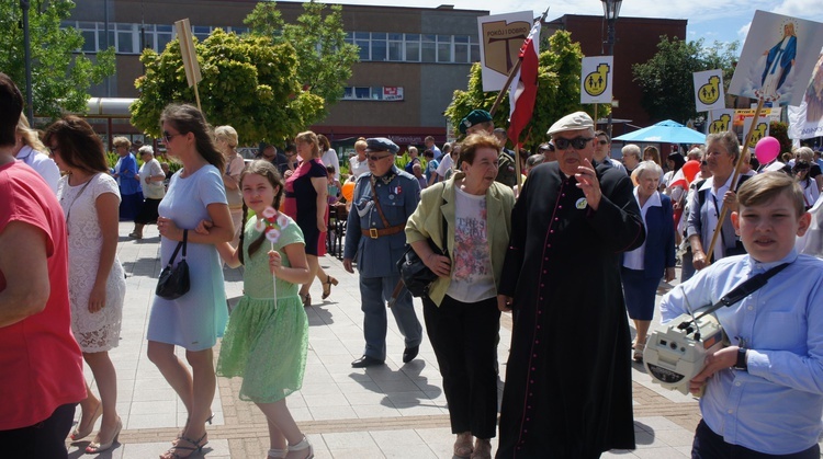
<instances>
[{"instance_id":1,"label":"man in grey-blue uniform with brown belt and peaked cap","mask_svg":"<svg viewBox=\"0 0 823 459\"><path fill-rule=\"evenodd\" d=\"M396 263L406 244L406 220L420 200L420 184L394 165L399 150L392 140L365 140L369 172L358 177L346 229L343 267L353 273L357 256L363 310L363 356L354 368L382 365L386 359L386 301L399 280ZM412 295L405 289L392 306L397 328L406 338L403 363L412 362L420 347L422 326L417 320Z\"/></svg>"}]
</instances>

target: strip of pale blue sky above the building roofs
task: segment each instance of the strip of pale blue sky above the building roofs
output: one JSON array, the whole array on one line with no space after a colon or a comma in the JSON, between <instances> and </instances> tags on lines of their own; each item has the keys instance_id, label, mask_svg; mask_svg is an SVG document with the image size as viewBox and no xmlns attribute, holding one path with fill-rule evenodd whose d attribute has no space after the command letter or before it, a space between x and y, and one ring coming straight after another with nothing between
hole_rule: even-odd
<instances>
[{"instance_id":1,"label":"strip of pale blue sky above the building roofs","mask_svg":"<svg viewBox=\"0 0 823 459\"><path fill-rule=\"evenodd\" d=\"M386 4L375 0L331 0L330 2ZM441 4L453 4L455 9L462 10L487 10L492 14L531 10L535 16L546 7L551 7L549 20L563 14L602 15L602 3L598 0L551 2L544 0L401 0L393 3L397 7L422 8L437 8ZM711 44L714 41L733 42L736 39L743 45L755 10L823 22L821 0L624 0L620 15L686 19L688 20L686 33L689 41L704 38L708 44Z\"/></svg>"}]
</instances>

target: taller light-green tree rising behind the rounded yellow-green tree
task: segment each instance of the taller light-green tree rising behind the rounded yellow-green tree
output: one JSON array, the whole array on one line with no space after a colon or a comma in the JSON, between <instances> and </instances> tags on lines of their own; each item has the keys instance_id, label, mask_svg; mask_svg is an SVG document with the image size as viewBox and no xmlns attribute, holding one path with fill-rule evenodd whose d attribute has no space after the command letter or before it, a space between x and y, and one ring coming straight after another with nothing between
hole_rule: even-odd
<instances>
[{"instance_id":1,"label":"taller light-green tree rising behind the rounded yellow-green tree","mask_svg":"<svg viewBox=\"0 0 823 459\"><path fill-rule=\"evenodd\" d=\"M303 3L304 13L296 23L286 24L273 1L262 1L244 23L255 35L289 43L297 53L297 79L305 90L326 102L326 111L343 95L351 67L359 60L358 47L346 43L342 7L329 7L312 0ZM323 115L325 115L324 112ZM318 119L319 121L319 119Z\"/></svg>"}]
</instances>

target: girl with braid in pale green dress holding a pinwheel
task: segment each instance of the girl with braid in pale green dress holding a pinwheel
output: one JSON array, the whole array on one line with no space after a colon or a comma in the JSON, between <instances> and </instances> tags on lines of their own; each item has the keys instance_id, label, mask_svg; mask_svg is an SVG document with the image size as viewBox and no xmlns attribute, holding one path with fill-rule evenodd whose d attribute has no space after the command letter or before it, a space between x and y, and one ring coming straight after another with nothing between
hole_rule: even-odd
<instances>
[{"instance_id":1,"label":"girl with braid in pale green dress holding a pinwheel","mask_svg":"<svg viewBox=\"0 0 823 459\"><path fill-rule=\"evenodd\" d=\"M240 244L233 249L225 242L217 251L227 265L246 265L244 296L229 317L217 375L243 377L240 399L255 402L268 420L270 458L312 458L312 445L285 405L286 395L303 385L308 346L308 320L297 295L300 285L312 279L303 233L273 210L280 207L283 182L270 162L250 163L240 174ZM250 221L248 209L257 216ZM267 226L275 216L279 225ZM199 230L207 227L204 221ZM269 231L277 236L267 238ZM264 248L271 248L268 254Z\"/></svg>"}]
</instances>

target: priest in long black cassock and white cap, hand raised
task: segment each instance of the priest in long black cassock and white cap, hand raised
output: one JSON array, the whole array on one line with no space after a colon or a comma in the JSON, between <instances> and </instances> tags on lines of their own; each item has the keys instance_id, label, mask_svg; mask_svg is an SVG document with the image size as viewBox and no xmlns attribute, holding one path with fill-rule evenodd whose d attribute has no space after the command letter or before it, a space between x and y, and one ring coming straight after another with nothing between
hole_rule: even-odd
<instances>
[{"instance_id":1,"label":"priest in long black cassock and white cap, hand raised","mask_svg":"<svg viewBox=\"0 0 823 459\"><path fill-rule=\"evenodd\" d=\"M643 219L631 180L593 165L586 113L564 116L549 135L557 161L529 172L498 290L514 330L497 459L634 449L619 261L643 243Z\"/></svg>"}]
</instances>

